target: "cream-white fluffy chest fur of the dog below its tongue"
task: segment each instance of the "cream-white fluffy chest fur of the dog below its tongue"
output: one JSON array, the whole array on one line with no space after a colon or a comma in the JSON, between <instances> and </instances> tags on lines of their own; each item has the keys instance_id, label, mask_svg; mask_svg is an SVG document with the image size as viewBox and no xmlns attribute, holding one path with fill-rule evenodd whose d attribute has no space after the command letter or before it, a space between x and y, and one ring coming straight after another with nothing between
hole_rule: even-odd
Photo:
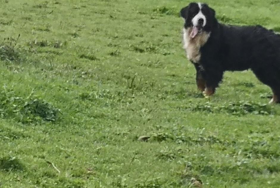
<instances>
[{"instance_id":1,"label":"cream-white fluffy chest fur of the dog below its tongue","mask_svg":"<svg viewBox=\"0 0 280 188\"><path fill-rule=\"evenodd\" d=\"M210 37L210 33L201 32L195 38L190 38L191 29L183 29L184 49L187 53L187 58L193 63L198 63L201 57L200 48L204 46Z\"/></svg>"}]
</instances>

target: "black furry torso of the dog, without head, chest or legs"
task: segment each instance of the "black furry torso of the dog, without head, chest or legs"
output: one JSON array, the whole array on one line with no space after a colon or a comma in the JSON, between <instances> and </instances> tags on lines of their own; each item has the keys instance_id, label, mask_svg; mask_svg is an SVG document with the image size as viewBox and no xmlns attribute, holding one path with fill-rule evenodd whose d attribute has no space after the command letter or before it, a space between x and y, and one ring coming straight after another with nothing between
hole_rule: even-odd
<instances>
[{"instance_id":1,"label":"black furry torso of the dog, without head, chest or legs","mask_svg":"<svg viewBox=\"0 0 280 188\"><path fill-rule=\"evenodd\" d=\"M210 59L223 70L241 71L252 67L280 67L280 36L262 26L219 24L201 47L201 61ZM205 64L207 66L207 63Z\"/></svg>"}]
</instances>

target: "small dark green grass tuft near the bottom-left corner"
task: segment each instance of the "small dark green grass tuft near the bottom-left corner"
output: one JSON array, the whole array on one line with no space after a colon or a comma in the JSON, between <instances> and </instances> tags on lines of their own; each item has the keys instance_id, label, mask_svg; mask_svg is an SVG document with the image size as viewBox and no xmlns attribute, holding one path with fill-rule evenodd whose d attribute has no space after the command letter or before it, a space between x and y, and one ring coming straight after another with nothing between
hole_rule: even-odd
<instances>
[{"instance_id":1,"label":"small dark green grass tuft near the bottom-left corner","mask_svg":"<svg viewBox=\"0 0 280 188\"><path fill-rule=\"evenodd\" d=\"M0 170L6 172L10 171L23 171L25 169L24 165L16 157L2 157L0 158Z\"/></svg>"}]
</instances>

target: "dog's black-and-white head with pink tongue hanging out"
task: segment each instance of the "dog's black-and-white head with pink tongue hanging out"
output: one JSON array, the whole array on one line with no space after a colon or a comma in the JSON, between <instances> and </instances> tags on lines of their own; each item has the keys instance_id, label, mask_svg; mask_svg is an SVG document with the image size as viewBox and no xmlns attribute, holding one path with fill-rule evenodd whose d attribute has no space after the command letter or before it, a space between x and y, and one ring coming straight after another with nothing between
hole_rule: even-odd
<instances>
[{"instance_id":1,"label":"dog's black-and-white head with pink tongue hanging out","mask_svg":"<svg viewBox=\"0 0 280 188\"><path fill-rule=\"evenodd\" d=\"M195 38L201 32L211 32L217 24L215 10L203 3L190 3L182 8L181 16L185 20L185 29L190 29L190 38Z\"/></svg>"}]
</instances>

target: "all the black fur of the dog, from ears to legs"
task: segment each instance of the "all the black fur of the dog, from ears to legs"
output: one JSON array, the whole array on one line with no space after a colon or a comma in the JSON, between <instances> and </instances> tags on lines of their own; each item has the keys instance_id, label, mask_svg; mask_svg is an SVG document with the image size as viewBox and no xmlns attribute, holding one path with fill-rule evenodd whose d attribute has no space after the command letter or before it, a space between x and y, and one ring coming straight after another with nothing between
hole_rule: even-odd
<instances>
[{"instance_id":1,"label":"all the black fur of the dog, from ears to legs","mask_svg":"<svg viewBox=\"0 0 280 188\"><path fill-rule=\"evenodd\" d=\"M207 4L203 4L201 10L207 19L204 30L211 34L200 49L198 64L203 69L195 67L197 77L203 77L206 87L215 91L225 71L251 69L260 81L270 86L273 94L280 97L280 35L260 25L238 27L220 24L215 11ZM191 19L198 11L196 3L181 10L185 28L192 27Z\"/></svg>"}]
</instances>

